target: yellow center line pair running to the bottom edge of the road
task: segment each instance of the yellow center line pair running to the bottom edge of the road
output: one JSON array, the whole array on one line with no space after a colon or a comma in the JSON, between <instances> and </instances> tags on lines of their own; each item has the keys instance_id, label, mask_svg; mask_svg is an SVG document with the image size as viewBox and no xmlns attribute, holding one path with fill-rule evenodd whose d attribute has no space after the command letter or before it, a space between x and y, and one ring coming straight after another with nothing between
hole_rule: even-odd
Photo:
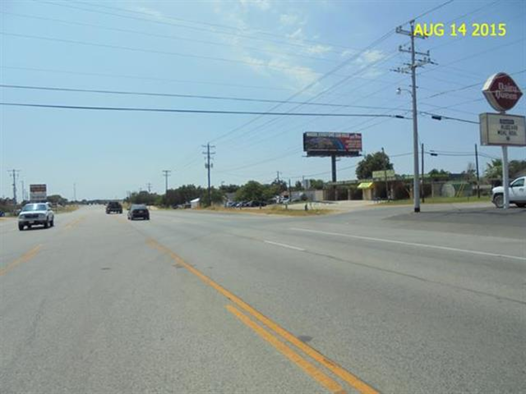
<instances>
[{"instance_id":1,"label":"yellow center line pair running to the bottom edge of the road","mask_svg":"<svg viewBox=\"0 0 526 394\"><path fill-rule=\"evenodd\" d=\"M201 281L203 281L210 287L213 287L214 289L216 289L216 291L224 295L232 303L236 304L239 308L245 310L245 312L247 312L252 317L259 320L260 323L264 324L266 327L274 331L274 333L279 335L281 338L285 339L290 344L294 345L295 347L300 349L302 352L304 352L306 355L308 355L310 358L317 361L320 365L330 370L333 374L338 376L340 379L347 382L351 387L355 388L362 394L378 394L378 391L373 389L367 383L361 381L358 377L351 374L351 372L339 366L335 361L332 361L328 357L323 356L318 350L310 347L309 345L307 345L306 343L304 343L303 341L301 341L300 339L298 339L297 337L289 333L285 328L282 328L277 323L273 322L271 319L269 319L265 315L258 312L258 310L251 307L244 300L237 297L233 293L229 292L226 288L214 282L212 279L210 279L208 276L200 272L198 269L196 269L195 267L185 262L183 258L179 257L177 254L169 250L167 247L159 244L157 241L153 239L149 239L147 243L151 247L154 247L157 250L159 250L160 252L168 254L176 262L177 265L185 267L189 272L191 272L192 274L196 275L199 279L201 279ZM252 328L254 331L256 331L258 335L266 339L269 343L275 346L279 351L285 354L289 359L294 361L300 368L306 371L307 374L309 374L313 379L317 380L322 386L326 387L327 389L329 389L331 392L335 394L345 393L345 390L339 385L338 382L331 379L329 376L324 374L321 370L313 366L309 361L299 356L294 350L292 350L287 345L282 343L282 341L277 339L275 336L269 334L268 331L263 329L258 324L254 323L246 315L242 314L237 308L231 305L227 305L226 308L228 309L230 313L234 314L239 320L241 320L241 322L245 323L247 326Z\"/></svg>"}]
</instances>

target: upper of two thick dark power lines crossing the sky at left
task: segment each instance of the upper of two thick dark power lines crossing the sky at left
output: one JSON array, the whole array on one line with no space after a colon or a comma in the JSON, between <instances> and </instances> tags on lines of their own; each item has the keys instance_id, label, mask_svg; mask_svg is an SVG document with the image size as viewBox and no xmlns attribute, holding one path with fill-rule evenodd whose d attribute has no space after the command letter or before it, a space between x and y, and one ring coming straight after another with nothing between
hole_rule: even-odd
<instances>
[{"instance_id":1,"label":"upper of two thick dark power lines crossing the sky at left","mask_svg":"<svg viewBox=\"0 0 526 394\"><path fill-rule=\"evenodd\" d=\"M396 109L389 107L375 107L375 106L356 106L347 104L332 104L323 102L309 102L309 101L285 101L285 100L271 100L261 98L249 97L231 97L231 96L207 96L207 95L186 95L176 93L160 93L160 92L143 92L143 91L123 91L123 90L101 90L101 89L77 89L77 88L63 88L55 86L29 86L29 85L4 85L0 84L2 88L8 89L31 89L31 90L51 90L64 92L82 92L82 93L97 93L110 95L127 95L127 96L157 96L157 97L180 97L180 98L195 98L195 99L209 99L209 100L228 100L228 101L248 101L248 102L279 102L288 104L301 104L320 107L340 107L340 108L367 108L367 109Z\"/></svg>"}]
</instances>

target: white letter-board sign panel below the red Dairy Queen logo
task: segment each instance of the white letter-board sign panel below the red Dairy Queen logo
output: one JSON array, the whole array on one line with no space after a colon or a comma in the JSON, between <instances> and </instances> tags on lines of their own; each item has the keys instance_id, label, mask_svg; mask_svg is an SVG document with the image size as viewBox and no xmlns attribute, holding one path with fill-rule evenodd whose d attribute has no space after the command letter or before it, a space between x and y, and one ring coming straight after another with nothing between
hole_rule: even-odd
<instances>
[{"instance_id":1,"label":"white letter-board sign panel below the red Dairy Queen logo","mask_svg":"<svg viewBox=\"0 0 526 394\"><path fill-rule=\"evenodd\" d=\"M523 116L481 113L479 119L482 145L526 146L526 127Z\"/></svg>"}]
</instances>

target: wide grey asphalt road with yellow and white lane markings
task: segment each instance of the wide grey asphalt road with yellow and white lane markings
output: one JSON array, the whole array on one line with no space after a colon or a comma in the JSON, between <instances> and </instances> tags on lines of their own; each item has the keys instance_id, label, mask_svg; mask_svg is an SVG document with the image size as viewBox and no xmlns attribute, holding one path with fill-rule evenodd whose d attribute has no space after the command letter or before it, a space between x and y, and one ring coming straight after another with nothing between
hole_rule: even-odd
<instances>
[{"instance_id":1,"label":"wide grey asphalt road with yellow and white lane markings","mask_svg":"<svg viewBox=\"0 0 526 394\"><path fill-rule=\"evenodd\" d=\"M526 392L526 210L0 221L2 393Z\"/></svg>"}]
</instances>

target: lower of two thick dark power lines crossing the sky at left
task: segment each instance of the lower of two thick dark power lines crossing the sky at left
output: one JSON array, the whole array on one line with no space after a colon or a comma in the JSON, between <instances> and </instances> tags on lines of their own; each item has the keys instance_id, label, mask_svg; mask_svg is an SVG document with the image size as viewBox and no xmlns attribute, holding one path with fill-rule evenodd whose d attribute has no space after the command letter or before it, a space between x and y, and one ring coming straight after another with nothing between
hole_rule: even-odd
<instances>
[{"instance_id":1,"label":"lower of two thick dark power lines crossing the sky at left","mask_svg":"<svg viewBox=\"0 0 526 394\"><path fill-rule=\"evenodd\" d=\"M19 102L0 102L3 106L35 107L35 108L57 108L57 109L80 109L97 111L138 111L138 112L176 112L176 113L210 113L224 115L269 115L269 116L325 116L325 117L385 117L403 119L401 115L384 115L377 113L312 113L312 112L261 112L261 111L221 111L207 109L176 109L176 108L139 108L139 107L88 107L68 106L51 104L29 104Z\"/></svg>"}]
</instances>

